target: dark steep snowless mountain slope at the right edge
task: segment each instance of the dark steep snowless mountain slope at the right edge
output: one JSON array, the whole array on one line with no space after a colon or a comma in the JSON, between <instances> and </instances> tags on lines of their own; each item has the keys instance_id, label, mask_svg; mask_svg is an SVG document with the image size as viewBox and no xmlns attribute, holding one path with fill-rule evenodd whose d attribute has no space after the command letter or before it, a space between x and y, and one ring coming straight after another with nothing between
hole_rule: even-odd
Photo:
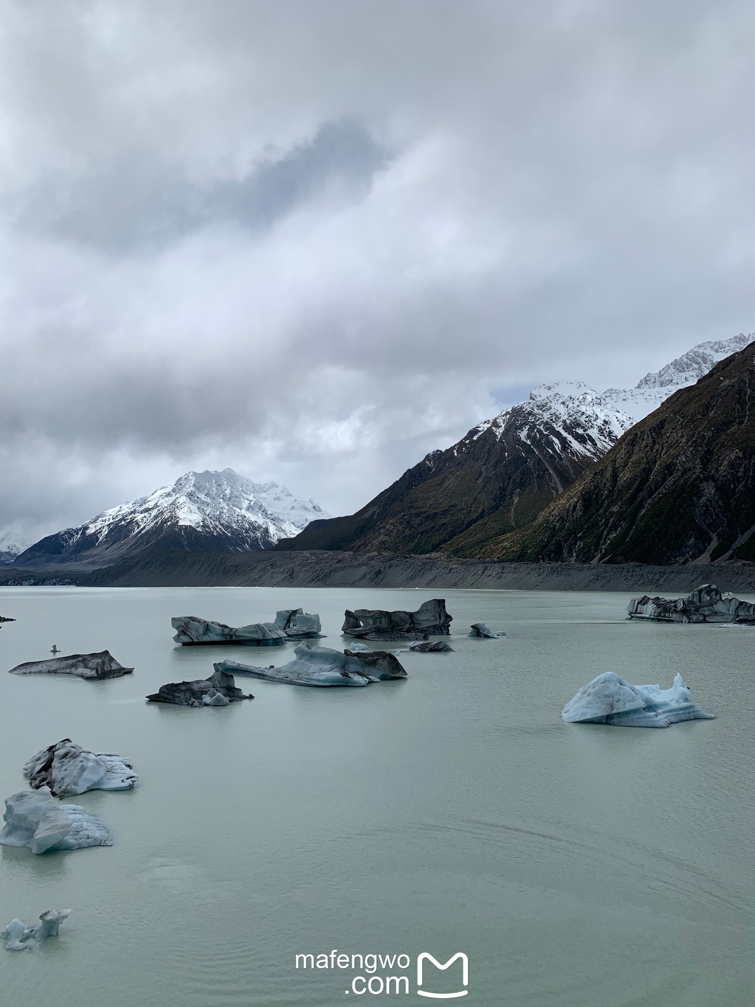
<instances>
[{"instance_id":1,"label":"dark steep snowless mountain slope at the right edge","mask_svg":"<svg viewBox=\"0 0 755 1007\"><path fill-rule=\"evenodd\" d=\"M755 560L755 344L677 391L527 528L506 561Z\"/></svg>"}]
</instances>

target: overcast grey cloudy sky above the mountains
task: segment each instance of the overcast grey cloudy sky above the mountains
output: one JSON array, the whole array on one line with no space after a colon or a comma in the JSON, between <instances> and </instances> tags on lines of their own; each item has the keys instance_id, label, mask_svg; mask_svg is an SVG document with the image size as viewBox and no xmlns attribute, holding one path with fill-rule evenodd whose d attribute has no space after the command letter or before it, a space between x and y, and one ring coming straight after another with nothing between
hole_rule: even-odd
<instances>
[{"instance_id":1,"label":"overcast grey cloudy sky above the mountains","mask_svg":"<svg viewBox=\"0 0 755 1007\"><path fill-rule=\"evenodd\" d=\"M333 513L755 329L746 0L0 0L0 533Z\"/></svg>"}]
</instances>

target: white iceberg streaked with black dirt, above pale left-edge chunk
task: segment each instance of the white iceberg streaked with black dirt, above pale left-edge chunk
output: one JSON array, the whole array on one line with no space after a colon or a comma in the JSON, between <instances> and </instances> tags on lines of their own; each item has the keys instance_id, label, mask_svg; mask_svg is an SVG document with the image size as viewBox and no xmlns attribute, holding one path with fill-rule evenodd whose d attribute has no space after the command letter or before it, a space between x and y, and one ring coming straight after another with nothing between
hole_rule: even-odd
<instances>
[{"instance_id":1,"label":"white iceberg streaked with black dirt, above pale left-edge chunk","mask_svg":"<svg viewBox=\"0 0 755 1007\"><path fill-rule=\"evenodd\" d=\"M90 752L70 738L42 748L23 767L34 789L49 787L55 798L86 790L128 790L139 779L131 762L115 752Z\"/></svg>"}]
</instances>

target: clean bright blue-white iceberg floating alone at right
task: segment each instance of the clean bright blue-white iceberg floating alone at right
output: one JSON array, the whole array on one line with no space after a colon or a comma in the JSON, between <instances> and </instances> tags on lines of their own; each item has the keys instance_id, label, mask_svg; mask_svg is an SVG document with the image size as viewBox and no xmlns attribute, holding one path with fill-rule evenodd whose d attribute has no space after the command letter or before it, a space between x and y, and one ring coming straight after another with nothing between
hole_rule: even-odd
<instances>
[{"instance_id":1,"label":"clean bright blue-white iceberg floating alone at right","mask_svg":"<svg viewBox=\"0 0 755 1007\"><path fill-rule=\"evenodd\" d=\"M604 672L583 686L561 711L567 723L613 724L616 727L670 727L683 720L715 720L690 699L681 675L670 689L632 686Z\"/></svg>"}]
</instances>

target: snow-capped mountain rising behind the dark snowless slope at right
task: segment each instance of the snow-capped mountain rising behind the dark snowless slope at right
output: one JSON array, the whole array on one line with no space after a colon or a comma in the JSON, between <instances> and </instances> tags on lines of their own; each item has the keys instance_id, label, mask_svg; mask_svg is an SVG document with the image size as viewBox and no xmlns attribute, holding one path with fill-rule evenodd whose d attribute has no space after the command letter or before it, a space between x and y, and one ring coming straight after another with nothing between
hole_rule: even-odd
<instances>
[{"instance_id":1,"label":"snow-capped mountain rising behind the dark snowless slope at right","mask_svg":"<svg viewBox=\"0 0 755 1007\"><path fill-rule=\"evenodd\" d=\"M700 343L634 389L542 385L428 454L356 514L314 521L278 548L489 555L487 543L534 521L634 423L753 338Z\"/></svg>"}]
</instances>

